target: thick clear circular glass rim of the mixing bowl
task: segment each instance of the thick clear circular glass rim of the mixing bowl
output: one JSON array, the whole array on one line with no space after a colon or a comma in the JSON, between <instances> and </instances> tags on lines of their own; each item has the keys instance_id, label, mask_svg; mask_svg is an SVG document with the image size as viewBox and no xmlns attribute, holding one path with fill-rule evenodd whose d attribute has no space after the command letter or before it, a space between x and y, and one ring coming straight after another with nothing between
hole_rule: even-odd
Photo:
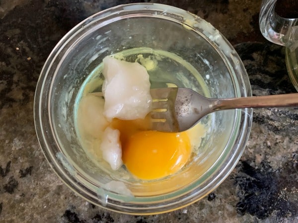
<instances>
[{"instance_id":1,"label":"thick clear circular glass rim of the mixing bowl","mask_svg":"<svg viewBox=\"0 0 298 223\"><path fill-rule=\"evenodd\" d=\"M108 201L107 203L102 202L102 200L105 200L105 198L98 196L98 194L94 194L91 190L87 190L84 184L80 182L79 179L81 179L81 177L78 174L70 173L71 171L69 170L66 171L66 164L70 168L72 168L72 165L67 161L67 158L62 155L60 156L60 160L57 161L57 154L54 156L54 154L51 152L51 147L55 147L58 142L52 135L53 126L51 124L51 117L49 116L49 114L51 113L50 97L47 89L50 88L51 80L55 78L55 76L51 76L49 70L54 65L54 61L56 61L57 59L59 60L59 55L62 49L68 47L70 40L74 38L77 33L82 31L85 32L86 29L90 28L93 23L100 20L105 21L111 16L121 16L121 12L123 11L129 11L130 13L141 13L140 10L142 10L142 8L144 10L142 11L142 13L147 15L149 12L153 13L154 11L158 11L158 16L170 16L171 13L182 16L182 20L179 21L182 25L186 26L187 28L191 27L192 29L203 33L206 39L209 40L209 42L218 50L220 54L222 54L226 66L230 69L230 75L233 76L236 96L251 96L250 83L244 65L230 43L210 23L201 19L197 15L191 14L183 9L156 3L123 4L95 13L77 24L72 30L70 30L50 53L41 70L41 74L36 86L34 98L34 122L39 144L51 168L56 172L60 179L76 194L94 205L101 206L111 211L132 215L159 214L177 210L200 200L211 191L216 189L229 175L229 173L233 170L238 160L240 159L244 151L245 144L248 140L252 124L252 109L237 110L236 125L238 126L239 131L236 132L237 137L235 136L234 139L229 142L234 145L232 148L232 157L228 160L224 167L222 166L218 170L217 176L213 178L212 181L209 180L207 182L204 182L203 189L201 188L199 192L189 191L187 194L179 196L178 198L175 198L171 203L164 204L163 206L157 205L156 207L148 207L148 203L137 203L131 205L129 203L122 202L121 200L114 201L114 203L111 203L111 201ZM164 8L166 8L166 10ZM241 88L239 87L240 83ZM213 184L213 186L211 188L208 188L211 183Z\"/></svg>"}]
</instances>

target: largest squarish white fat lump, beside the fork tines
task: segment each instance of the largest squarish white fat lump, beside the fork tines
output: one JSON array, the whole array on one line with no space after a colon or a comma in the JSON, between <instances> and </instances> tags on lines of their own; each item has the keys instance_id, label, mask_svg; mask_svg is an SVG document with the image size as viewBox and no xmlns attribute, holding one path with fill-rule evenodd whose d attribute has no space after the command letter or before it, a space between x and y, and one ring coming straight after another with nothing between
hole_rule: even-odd
<instances>
[{"instance_id":1,"label":"largest squarish white fat lump, beside the fork tines","mask_svg":"<svg viewBox=\"0 0 298 223\"><path fill-rule=\"evenodd\" d=\"M104 115L108 120L145 118L151 111L149 74L137 62L103 59Z\"/></svg>"}]
</instances>

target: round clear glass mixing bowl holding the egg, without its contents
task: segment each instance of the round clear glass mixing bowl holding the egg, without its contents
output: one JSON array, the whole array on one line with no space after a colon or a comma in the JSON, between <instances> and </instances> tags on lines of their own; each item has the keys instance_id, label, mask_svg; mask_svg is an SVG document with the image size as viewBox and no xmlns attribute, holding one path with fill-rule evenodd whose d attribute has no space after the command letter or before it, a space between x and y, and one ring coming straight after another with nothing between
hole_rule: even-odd
<instances>
[{"instance_id":1,"label":"round clear glass mixing bowl holding the egg, without its contents","mask_svg":"<svg viewBox=\"0 0 298 223\"><path fill-rule=\"evenodd\" d=\"M244 150L252 109L204 117L207 132L199 152L171 176L141 181L127 177L124 167L118 171L99 167L82 149L76 131L79 89L105 56L138 51L159 52L169 62L163 66L168 72L164 81L180 80L179 87L211 98L251 96L239 56L211 24L176 7L136 3L92 15L57 44L38 80L34 119L46 159L74 192L109 210L156 214L194 203L223 182ZM152 81L156 84L161 76Z\"/></svg>"}]
</instances>

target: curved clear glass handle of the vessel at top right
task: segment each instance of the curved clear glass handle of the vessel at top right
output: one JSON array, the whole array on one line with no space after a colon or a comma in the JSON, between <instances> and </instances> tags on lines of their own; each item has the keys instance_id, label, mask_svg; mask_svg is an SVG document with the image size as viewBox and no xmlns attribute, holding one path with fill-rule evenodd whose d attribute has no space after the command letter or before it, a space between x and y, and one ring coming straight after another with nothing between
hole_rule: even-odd
<instances>
[{"instance_id":1,"label":"curved clear glass handle of the vessel at top right","mask_svg":"<svg viewBox=\"0 0 298 223\"><path fill-rule=\"evenodd\" d=\"M262 1L259 17L261 33L272 43L286 46L290 49L296 49L298 47L298 18L284 18L279 16L275 12L276 2L277 0ZM297 7L298 11L297 2L295 2L293 7Z\"/></svg>"}]
</instances>

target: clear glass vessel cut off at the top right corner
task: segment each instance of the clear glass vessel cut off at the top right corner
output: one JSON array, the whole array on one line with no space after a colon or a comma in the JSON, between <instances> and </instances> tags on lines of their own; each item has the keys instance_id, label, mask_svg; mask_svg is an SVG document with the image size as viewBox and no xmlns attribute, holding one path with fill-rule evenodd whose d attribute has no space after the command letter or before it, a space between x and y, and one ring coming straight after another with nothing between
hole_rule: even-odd
<instances>
[{"instance_id":1,"label":"clear glass vessel cut off at the top right corner","mask_svg":"<svg viewBox=\"0 0 298 223\"><path fill-rule=\"evenodd\" d=\"M267 40L286 47L287 69L298 91L298 0L263 0L259 26Z\"/></svg>"}]
</instances>

